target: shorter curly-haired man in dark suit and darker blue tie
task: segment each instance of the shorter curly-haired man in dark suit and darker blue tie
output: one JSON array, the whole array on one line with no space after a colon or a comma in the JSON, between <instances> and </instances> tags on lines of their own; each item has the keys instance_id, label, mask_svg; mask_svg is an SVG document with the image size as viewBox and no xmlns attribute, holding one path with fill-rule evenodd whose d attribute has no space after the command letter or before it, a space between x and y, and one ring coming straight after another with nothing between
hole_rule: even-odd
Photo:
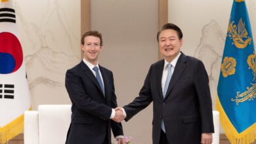
<instances>
[{"instance_id":1,"label":"shorter curly-haired man in dark suit and darker blue tie","mask_svg":"<svg viewBox=\"0 0 256 144\"><path fill-rule=\"evenodd\" d=\"M125 143L121 111L117 107L112 71L98 65L102 35L88 31L81 38L83 60L66 72L66 89L72 101L67 144L110 144L111 129L119 144Z\"/></svg>"}]
</instances>

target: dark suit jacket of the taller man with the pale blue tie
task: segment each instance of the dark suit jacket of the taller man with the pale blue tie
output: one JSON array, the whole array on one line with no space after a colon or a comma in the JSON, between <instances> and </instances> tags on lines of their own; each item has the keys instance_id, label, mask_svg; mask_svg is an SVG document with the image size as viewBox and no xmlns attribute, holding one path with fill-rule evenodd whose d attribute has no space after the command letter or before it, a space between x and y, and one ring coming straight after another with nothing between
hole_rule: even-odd
<instances>
[{"instance_id":1,"label":"dark suit jacket of the taller man with the pale blue tie","mask_svg":"<svg viewBox=\"0 0 256 144\"><path fill-rule=\"evenodd\" d=\"M153 101L153 143L160 141L161 119L171 144L200 143L202 133L213 133L209 80L200 60L181 53L165 99L161 79L164 60L153 63L139 96L123 107L129 120Z\"/></svg>"}]
</instances>

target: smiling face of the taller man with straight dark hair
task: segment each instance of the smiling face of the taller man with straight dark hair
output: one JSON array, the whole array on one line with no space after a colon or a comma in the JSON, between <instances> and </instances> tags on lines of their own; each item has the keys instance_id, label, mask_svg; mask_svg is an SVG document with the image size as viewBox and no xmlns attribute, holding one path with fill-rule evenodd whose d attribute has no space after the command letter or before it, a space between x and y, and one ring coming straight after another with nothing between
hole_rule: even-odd
<instances>
[{"instance_id":1,"label":"smiling face of the taller man with straight dark hair","mask_svg":"<svg viewBox=\"0 0 256 144\"><path fill-rule=\"evenodd\" d=\"M167 62L171 62L180 52L182 39L179 39L177 31L165 29L159 36L159 48Z\"/></svg>"}]
</instances>

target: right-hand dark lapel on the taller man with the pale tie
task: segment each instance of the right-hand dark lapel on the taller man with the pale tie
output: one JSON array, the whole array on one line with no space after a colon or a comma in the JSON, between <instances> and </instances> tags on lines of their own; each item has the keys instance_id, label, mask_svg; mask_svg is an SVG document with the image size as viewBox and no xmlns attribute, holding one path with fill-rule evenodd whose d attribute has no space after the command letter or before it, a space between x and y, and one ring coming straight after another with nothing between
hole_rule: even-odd
<instances>
[{"instance_id":1,"label":"right-hand dark lapel on the taller man with the pale tie","mask_svg":"<svg viewBox=\"0 0 256 144\"><path fill-rule=\"evenodd\" d=\"M169 93L173 89L173 86L175 85L175 83L181 77L185 67L186 67L186 56L183 53L181 53L181 56L180 56L179 60L177 61L177 64L176 64L175 69L173 71L173 75L171 76L171 81L169 83L167 92L165 94L165 99L169 96Z\"/></svg>"}]
</instances>

